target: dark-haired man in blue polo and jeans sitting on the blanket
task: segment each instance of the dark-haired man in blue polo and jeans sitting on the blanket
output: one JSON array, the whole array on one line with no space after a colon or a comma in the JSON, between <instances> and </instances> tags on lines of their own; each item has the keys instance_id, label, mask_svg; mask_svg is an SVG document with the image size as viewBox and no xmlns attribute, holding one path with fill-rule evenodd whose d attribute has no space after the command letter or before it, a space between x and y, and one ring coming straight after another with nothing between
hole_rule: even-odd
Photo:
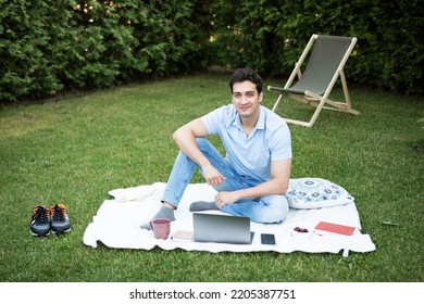
<instances>
[{"instance_id":1,"label":"dark-haired man in blue polo and jeans sitting on the blanket","mask_svg":"<svg viewBox=\"0 0 424 304\"><path fill-rule=\"evenodd\" d=\"M153 218L175 220L183 193L196 168L216 191L214 202L195 202L190 211L221 210L258 223L280 223L288 213L284 195L291 170L291 137L285 121L261 105L262 79L249 68L229 80L233 103L178 128L179 148ZM217 135L225 159L205 139ZM150 229L150 221L141 226Z\"/></svg>"}]
</instances>

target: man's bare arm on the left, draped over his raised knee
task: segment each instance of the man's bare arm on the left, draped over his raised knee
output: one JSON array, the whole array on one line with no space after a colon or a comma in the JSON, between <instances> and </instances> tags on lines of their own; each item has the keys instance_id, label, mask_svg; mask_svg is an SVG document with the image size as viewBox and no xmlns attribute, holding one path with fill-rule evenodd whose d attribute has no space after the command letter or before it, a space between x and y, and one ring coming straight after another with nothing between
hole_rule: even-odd
<instances>
[{"instance_id":1,"label":"man's bare arm on the left, draped over his raised knee","mask_svg":"<svg viewBox=\"0 0 424 304\"><path fill-rule=\"evenodd\" d=\"M211 165L209 160L203 155L196 143L197 137L207 136L207 127L204 126L201 118L197 118L178 128L174 132L173 139L178 145L179 150L200 166L208 185L215 186L220 185L225 179L225 177L223 177L221 173Z\"/></svg>"}]
</instances>

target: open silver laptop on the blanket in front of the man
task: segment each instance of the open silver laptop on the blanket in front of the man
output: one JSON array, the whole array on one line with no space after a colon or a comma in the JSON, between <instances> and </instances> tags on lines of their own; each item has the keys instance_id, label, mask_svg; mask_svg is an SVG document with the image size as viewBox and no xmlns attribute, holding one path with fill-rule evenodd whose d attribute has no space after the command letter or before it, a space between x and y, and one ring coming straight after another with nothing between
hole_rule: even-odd
<instances>
[{"instance_id":1,"label":"open silver laptop on the blanket in front of the man","mask_svg":"<svg viewBox=\"0 0 424 304\"><path fill-rule=\"evenodd\" d=\"M208 213L194 213L195 242L250 244L250 218Z\"/></svg>"}]
</instances>

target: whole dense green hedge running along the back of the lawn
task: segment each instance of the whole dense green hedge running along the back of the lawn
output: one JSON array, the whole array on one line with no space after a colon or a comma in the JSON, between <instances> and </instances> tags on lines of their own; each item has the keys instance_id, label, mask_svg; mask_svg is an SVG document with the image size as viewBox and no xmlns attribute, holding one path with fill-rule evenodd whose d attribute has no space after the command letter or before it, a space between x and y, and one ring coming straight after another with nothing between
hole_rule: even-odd
<instances>
[{"instance_id":1,"label":"whole dense green hedge running along the back of the lawn","mask_svg":"<svg viewBox=\"0 0 424 304\"><path fill-rule=\"evenodd\" d=\"M0 0L0 101L219 64L286 77L312 34L357 36L349 84L423 92L417 0Z\"/></svg>"}]
</instances>

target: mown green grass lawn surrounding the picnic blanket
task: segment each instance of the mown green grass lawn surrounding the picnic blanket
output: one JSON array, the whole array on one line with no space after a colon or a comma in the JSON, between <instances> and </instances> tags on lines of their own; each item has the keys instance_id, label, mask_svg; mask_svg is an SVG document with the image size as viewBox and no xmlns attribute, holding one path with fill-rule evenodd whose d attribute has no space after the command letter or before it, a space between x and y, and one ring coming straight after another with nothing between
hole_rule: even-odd
<instances>
[{"instance_id":1,"label":"mown green grass lawn surrounding the picnic blanket","mask_svg":"<svg viewBox=\"0 0 424 304\"><path fill-rule=\"evenodd\" d=\"M417 123L424 102L358 88L350 94L360 116L323 111L312 128L290 125L292 177L322 177L345 187L376 251L344 258L83 243L109 190L166 181L177 153L173 131L228 103L227 80L228 75L197 75L0 107L0 280L423 281L424 154L413 147L424 143L424 124ZM271 107L276 97L265 92L263 104ZM313 111L288 109L283 103L278 113ZM194 182L201 181L196 175ZM58 202L68 206L71 233L32 237L34 205Z\"/></svg>"}]
</instances>

